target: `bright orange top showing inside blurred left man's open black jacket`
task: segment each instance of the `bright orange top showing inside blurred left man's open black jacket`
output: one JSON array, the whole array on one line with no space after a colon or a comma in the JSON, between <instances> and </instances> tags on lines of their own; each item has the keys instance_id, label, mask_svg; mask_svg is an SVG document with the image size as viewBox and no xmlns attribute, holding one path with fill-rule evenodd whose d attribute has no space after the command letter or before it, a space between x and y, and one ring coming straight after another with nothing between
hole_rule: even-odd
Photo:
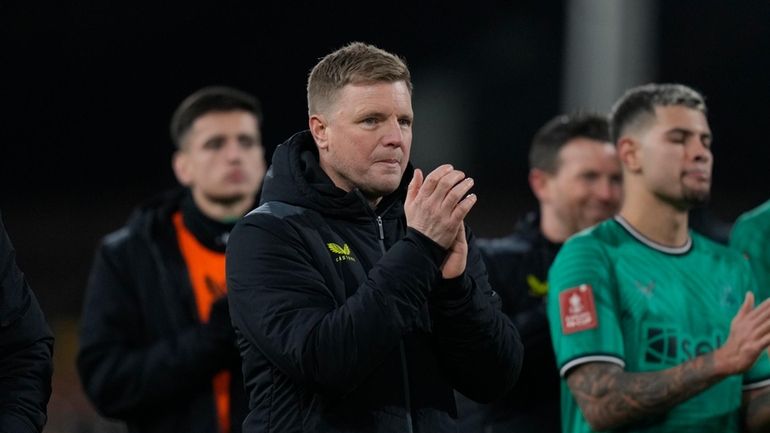
<instances>
[{"instance_id":1,"label":"bright orange top showing inside blurred left man's open black jacket","mask_svg":"<svg viewBox=\"0 0 770 433\"><path fill-rule=\"evenodd\" d=\"M198 318L201 323L207 323L211 315L211 305L227 293L225 255L198 242L185 227L181 212L176 212L173 220L179 249L187 263L187 273L193 286ZM223 370L217 373L212 386L219 429L222 433L230 433L230 372Z\"/></svg>"}]
</instances>

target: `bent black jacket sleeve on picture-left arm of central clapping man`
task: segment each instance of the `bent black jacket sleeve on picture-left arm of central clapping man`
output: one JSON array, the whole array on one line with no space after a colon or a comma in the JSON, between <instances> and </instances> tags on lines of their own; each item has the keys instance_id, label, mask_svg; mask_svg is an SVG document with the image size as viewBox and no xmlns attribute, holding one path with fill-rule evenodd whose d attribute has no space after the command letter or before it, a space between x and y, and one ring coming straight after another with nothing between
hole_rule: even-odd
<instances>
[{"instance_id":1,"label":"bent black jacket sleeve on picture-left arm of central clapping man","mask_svg":"<svg viewBox=\"0 0 770 433\"><path fill-rule=\"evenodd\" d=\"M230 308L236 329L282 372L339 395L414 327L445 253L409 230L345 298L345 283L321 269L331 258L317 241L268 214L239 222L227 247Z\"/></svg>"}]
</instances>

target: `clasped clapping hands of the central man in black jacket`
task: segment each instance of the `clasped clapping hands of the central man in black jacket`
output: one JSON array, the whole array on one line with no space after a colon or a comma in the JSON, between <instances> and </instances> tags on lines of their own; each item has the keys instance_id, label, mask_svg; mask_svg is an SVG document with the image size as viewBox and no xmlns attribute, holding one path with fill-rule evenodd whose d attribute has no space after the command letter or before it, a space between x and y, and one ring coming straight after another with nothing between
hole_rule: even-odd
<instances>
[{"instance_id":1,"label":"clasped clapping hands of the central man in black jacket","mask_svg":"<svg viewBox=\"0 0 770 433\"><path fill-rule=\"evenodd\" d=\"M473 179L444 164L423 177L416 169L409 183L404 212L407 226L419 231L448 251L441 266L443 278L455 278L465 272L468 245L464 219L476 195L468 194Z\"/></svg>"}]
</instances>

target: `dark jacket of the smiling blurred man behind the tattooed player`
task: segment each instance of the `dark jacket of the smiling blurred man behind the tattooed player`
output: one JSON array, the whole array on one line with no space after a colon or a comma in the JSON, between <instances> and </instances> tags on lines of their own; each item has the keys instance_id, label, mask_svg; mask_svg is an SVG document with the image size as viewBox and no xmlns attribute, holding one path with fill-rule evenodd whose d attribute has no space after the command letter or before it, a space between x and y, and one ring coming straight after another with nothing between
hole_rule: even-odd
<instances>
[{"instance_id":1,"label":"dark jacket of the smiling blurred man behind the tattooed player","mask_svg":"<svg viewBox=\"0 0 770 433\"><path fill-rule=\"evenodd\" d=\"M470 419L481 419L481 426L468 429L558 433L561 385L545 301L548 269L562 244L546 239L540 231L539 214L530 212L517 222L513 233L478 239L477 245L489 271L489 282L502 299L503 312L521 335L524 361L519 381L505 398L483 407L469 404L463 410L470 412Z\"/></svg>"}]
</instances>

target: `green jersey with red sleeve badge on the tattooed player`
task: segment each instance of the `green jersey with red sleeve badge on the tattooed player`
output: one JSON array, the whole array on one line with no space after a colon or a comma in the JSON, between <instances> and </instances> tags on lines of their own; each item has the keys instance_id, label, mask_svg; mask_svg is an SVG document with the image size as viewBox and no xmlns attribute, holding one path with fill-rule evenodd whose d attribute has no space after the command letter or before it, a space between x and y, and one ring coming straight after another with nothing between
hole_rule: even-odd
<instances>
[{"instance_id":1,"label":"green jersey with red sleeve badge on the tattooed player","mask_svg":"<svg viewBox=\"0 0 770 433\"><path fill-rule=\"evenodd\" d=\"M564 379L571 368L599 361L627 372L658 371L724 344L754 279L740 254L690 236L681 248L665 247L616 217L576 234L556 256L548 320L565 433L593 431ZM770 360L763 352L749 372L622 431L738 432L742 391L766 385Z\"/></svg>"}]
</instances>

